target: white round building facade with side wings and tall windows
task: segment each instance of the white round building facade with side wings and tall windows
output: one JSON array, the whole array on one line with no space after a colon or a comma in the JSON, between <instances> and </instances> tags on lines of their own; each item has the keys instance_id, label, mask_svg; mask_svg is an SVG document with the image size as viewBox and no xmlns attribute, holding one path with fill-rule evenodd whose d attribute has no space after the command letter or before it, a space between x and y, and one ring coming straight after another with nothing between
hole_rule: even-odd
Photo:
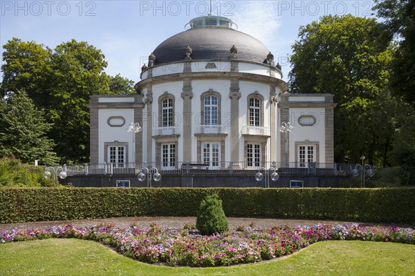
<instances>
[{"instance_id":1,"label":"white round building facade with side wings and tall windows","mask_svg":"<svg viewBox=\"0 0 415 276\"><path fill-rule=\"evenodd\" d=\"M229 31L214 29L221 30ZM189 34L183 33L176 40ZM174 55L168 45L159 52ZM186 162L210 169L230 162L241 168L333 163L332 95L286 93L281 66L270 53L257 62L231 48L226 58L206 59L204 49L203 59L192 59L196 50L189 48L174 62L157 64L152 54L137 95L91 98L91 163L147 162L162 169ZM142 131L127 132L131 122ZM286 134L280 127L288 122L293 129Z\"/></svg>"}]
</instances>

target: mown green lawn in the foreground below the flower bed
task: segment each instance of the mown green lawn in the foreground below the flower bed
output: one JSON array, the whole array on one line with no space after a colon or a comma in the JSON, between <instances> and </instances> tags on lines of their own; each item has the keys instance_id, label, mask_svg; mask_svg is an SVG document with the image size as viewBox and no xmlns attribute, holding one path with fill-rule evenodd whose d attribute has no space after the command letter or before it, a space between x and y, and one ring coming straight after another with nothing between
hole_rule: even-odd
<instances>
[{"instance_id":1,"label":"mown green lawn in the foreground below the flower bed","mask_svg":"<svg viewBox=\"0 0 415 276\"><path fill-rule=\"evenodd\" d=\"M46 239L0 244L0 275L415 275L415 246L324 241L261 264L171 268L142 264L94 241Z\"/></svg>"}]
</instances>

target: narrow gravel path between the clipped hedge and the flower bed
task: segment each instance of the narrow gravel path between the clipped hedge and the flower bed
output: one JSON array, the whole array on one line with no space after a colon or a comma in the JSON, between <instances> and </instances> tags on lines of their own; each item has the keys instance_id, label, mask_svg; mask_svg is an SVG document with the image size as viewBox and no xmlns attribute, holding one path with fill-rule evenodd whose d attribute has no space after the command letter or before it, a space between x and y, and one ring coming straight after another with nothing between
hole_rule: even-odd
<instances>
[{"instance_id":1,"label":"narrow gravel path between the clipped hedge and the flower bed","mask_svg":"<svg viewBox=\"0 0 415 276\"><path fill-rule=\"evenodd\" d=\"M244 224L248 226L251 221L255 223L256 227L268 228L272 227L275 224L283 224L289 226L298 226L298 225L313 225L317 223L323 224L349 224L350 221L317 221L317 220L304 220L304 219L257 219L257 218L228 218L230 228L234 228L239 224ZM72 223L75 226L88 226L93 224L98 224L102 222L113 222L116 226L123 228L130 226L131 223L137 223L140 228L149 228L151 222L157 223L162 228L175 228L183 229L185 222L196 223L196 217L118 217L118 218L109 218L109 219L80 219L73 221L37 221L37 222L27 222L27 223L7 223L0 224L0 230L8 230L10 228L23 228L23 229L32 229L32 228L47 228L50 226L57 226L62 224ZM413 225L400 224L400 223L359 223L364 226L400 226L400 227L411 227Z\"/></svg>"}]
</instances>

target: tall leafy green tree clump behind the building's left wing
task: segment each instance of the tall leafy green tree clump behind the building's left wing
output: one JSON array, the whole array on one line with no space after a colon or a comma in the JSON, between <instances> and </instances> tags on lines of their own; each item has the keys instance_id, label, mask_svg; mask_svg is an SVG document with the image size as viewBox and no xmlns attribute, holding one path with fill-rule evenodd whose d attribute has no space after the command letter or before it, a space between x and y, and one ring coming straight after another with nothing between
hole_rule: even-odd
<instances>
[{"instance_id":1,"label":"tall leafy green tree clump behind the building's left wing","mask_svg":"<svg viewBox=\"0 0 415 276\"><path fill-rule=\"evenodd\" d=\"M133 93L131 80L104 73L102 51L74 39L54 50L13 38L3 46L0 93L25 91L52 129L48 137L64 163L89 161L89 97Z\"/></svg>"}]
</instances>

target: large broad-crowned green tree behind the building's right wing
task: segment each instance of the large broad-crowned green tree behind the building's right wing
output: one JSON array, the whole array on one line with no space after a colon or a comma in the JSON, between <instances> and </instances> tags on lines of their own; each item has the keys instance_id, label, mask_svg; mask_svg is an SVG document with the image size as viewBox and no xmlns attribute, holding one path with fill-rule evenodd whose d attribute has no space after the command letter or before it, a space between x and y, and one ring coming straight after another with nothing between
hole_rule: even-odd
<instances>
[{"instance_id":1,"label":"large broad-crowned green tree behind the building's right wing","mask_svg":"<svg viewBox=\"0 0 415 276\"><path fill-rule=\"evenodd\" d=\"M373 163L390 146L391 121L379 120L385 112L378 108L390 98L385 87L393 49L376 39L381 34L375 19L329 15L302 26L292 46L291 92L333 93L338 103L334 134L338 162L358 163L365 154Z\"/></svg>"}]
</instances>

